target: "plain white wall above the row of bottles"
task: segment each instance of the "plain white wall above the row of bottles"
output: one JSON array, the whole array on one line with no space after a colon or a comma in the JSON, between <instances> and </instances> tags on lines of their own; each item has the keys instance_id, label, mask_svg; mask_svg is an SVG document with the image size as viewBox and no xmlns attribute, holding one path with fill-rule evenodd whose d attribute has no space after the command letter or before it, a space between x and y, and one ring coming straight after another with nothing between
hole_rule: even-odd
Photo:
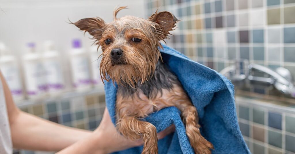
<instances>
[{"instance_id":1,"label":"plain white wall above the row of bottles","mask_svg":"<svg viewBox=\"0 0 295 154\"><path fill-rule=\"evenodd\" d=\"M0 0L0 41L15 53L22 54L27 42L35 42L42 50L45 40L53 40L56 48L67 51L73 38L81 38L89 47L90 35L83 35L68 19L99 16L106 22L113 19L113 10L119 6L129 9L120 11L118 17L134 15L144 17L143 0Z\"/></svg>"}]
</instances>

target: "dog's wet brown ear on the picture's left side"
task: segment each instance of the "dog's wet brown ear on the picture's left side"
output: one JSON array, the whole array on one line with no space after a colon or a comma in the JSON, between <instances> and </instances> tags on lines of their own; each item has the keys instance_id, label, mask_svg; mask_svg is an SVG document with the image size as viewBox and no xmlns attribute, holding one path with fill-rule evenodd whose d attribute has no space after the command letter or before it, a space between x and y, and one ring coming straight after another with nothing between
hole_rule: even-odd
<instances>
[{"instance_id":1,"label":"dog's wet brown ear on the picture's left side","mask_svg":"<svg viewBox=\"0 0 295 154\"><path fill-rule=\"evenodd\" d=\"M75 23L81 31L88 32L94 38L99 40L101 38L102 33L106 28L106 23L99 17L96 18L84 18Z\"/></svg>"}]
</instances>

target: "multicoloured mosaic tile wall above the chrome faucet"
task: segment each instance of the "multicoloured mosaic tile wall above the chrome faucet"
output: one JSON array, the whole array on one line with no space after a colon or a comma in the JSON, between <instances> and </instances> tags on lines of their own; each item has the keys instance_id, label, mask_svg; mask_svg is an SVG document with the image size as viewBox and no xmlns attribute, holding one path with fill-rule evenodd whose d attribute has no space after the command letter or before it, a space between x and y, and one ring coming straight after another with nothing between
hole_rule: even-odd
<instances>
[{"instance_id":1,"label":"multicoloured mosaic tile wall above the chrome faucet","mask_svg":"<svg viewBox=\"0 0 295 154\"><path fill-rule=\"evenodd\" d=\"M147 16L170 11L181 21L167 44L221 71L237 59L295 77L295 0L146 0ZM250 92L280 95L267 88Z\"/></svg>"}]
</instances>

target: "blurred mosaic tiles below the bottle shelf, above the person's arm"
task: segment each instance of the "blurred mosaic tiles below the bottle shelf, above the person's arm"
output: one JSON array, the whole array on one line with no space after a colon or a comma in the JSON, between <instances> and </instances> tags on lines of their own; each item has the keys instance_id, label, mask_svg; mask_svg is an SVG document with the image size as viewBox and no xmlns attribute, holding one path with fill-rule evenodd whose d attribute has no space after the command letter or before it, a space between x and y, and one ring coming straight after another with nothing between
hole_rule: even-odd
<instances>
[{"instance_id":1,"label":"blurred mosaic tiles below the bottle shelf, above the person's arm","mask_svg":"<svg viewBox=\"0 0 295 154\"><path fill-rule=\"evenodd\" d=\"M104 108L104 92L72 92L65 97L41 102L22 102L22 111L74 128L94 130L99 126ZM45 154L15 150L14 154ZM47 153L46 153L47 154Z\"/></svg>"}]
</instances>

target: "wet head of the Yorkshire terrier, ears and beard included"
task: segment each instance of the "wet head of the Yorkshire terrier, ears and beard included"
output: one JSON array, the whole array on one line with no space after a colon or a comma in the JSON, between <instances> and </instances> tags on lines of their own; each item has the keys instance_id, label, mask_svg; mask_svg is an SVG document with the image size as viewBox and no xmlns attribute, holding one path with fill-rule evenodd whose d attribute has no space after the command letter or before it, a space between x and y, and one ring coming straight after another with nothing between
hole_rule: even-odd
<instances>
[{"instance_id":1,"label":"wet head of the Yorkshire terrier, ears and beard included","mask_svg":"<svg viewBox=\"0 0 295 154\"><path fill-rule=\"evenodd\" d=\"M112 79L117 84L135 87L153 75L159 60L160 40L168 38L177 18L170 12L154 13L148 19L135 16L117 18L105 23L101 18L85 18L75 24L82 31L89 32L102 48L100 74L102 79Z\"/></svg>"}]
</instances>

